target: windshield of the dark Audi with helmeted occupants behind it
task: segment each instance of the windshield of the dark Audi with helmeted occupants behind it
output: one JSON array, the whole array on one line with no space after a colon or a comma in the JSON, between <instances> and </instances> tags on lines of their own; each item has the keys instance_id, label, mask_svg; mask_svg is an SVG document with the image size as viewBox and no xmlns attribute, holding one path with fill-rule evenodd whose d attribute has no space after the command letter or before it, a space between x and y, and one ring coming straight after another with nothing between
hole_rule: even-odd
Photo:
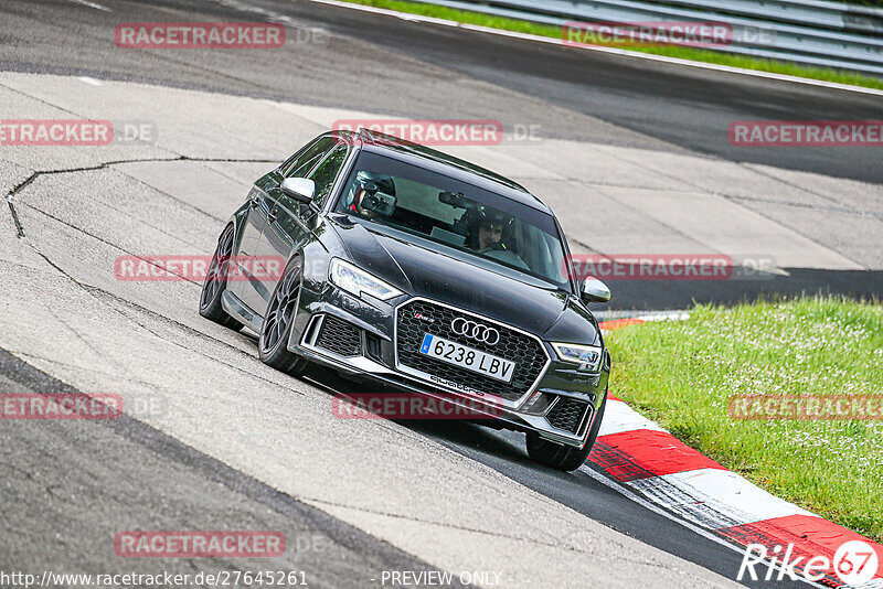
<instances>
[{"instance_id":1,"label":"windshield of the dark Audi with helmeted occupants behind it","mask_svg":"<svg viewBox=\"0 0 883 589\"><path fill-rule=\"evenodd\" d=\"M552 215L472 184L362 152L336 211L571 290Z\"/></svg>"}]
</instances>

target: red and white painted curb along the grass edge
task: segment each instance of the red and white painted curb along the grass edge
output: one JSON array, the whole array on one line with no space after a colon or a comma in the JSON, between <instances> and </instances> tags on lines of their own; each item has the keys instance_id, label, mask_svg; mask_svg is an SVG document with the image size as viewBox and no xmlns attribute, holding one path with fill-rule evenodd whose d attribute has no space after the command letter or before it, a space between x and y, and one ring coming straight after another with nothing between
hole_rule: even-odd
<instances>
[{"instance_id":1,"label":"red and white painted curb along the grass edge","mask_svg":"<svg viewBox=\"0 0 883 589\"><path fill-rule=\"evenodd\" d=\"M625 318L599 325L610 330L647 320ZM763 545L766 554L779 563L792 545L789 561L804 557L795 566L798 572L804 569L801 565L816 557L833 563L834 553L847 542L864 542L876 551L879 566L872 580L857 587L883 589L883 545L767 493L684 445L613 395L607 397L604 421L588 461L650 503L730 543L744 547ZM763 572L766 570L764 566ZM848 587L833 566L818 583Z\"/></svg>"}]
</instances>

